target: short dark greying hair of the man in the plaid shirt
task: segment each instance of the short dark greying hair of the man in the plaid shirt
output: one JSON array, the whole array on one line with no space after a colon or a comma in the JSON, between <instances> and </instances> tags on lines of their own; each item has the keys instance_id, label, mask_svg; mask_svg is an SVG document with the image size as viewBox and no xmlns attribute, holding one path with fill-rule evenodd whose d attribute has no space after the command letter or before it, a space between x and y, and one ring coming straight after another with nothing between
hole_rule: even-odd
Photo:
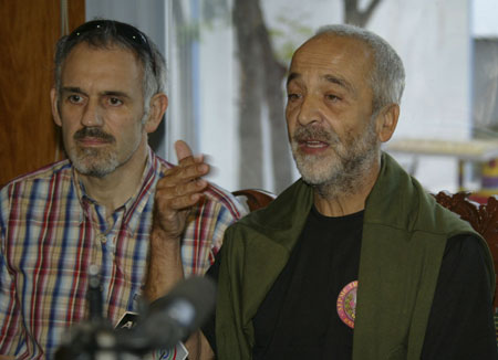
<instances>
[{"instance_id":1,"label":"short dark greying hair of the man in the plaid shirt","mask_svg":"<svg viewBox=\"0 0 498 360\"><path fill-rule=\"evenodd\" d=\"M62 65L71 51L83 42L96 49L118 46L136 55L144 70L144 109L148 113L151 98L166 91L166 61L157 46L142 31L114 20L96 19L85 22L58 41L54 59L54 82L58 94L62 86Z\"/></svg>"}]
</instances>

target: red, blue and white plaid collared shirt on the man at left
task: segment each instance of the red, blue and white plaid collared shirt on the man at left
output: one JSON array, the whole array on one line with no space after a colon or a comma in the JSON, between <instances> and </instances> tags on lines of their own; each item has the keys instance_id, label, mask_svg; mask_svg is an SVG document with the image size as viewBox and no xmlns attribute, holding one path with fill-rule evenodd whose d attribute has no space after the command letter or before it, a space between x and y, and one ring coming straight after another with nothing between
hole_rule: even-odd
<instances>
[{"instance_id":1,"label":"red, blue and white plaid collared shirt on the man at left","mask_svg":"<svg viewBox=\"0 0 498 360\"><path fill-rule=\"evenodd\" d=\"M107 222L68 160L1 190L0 353L52 359L68 327L85 319L91 264L101 269L104 314L112 324L137 310L155 187L170 167L149 150L142 187ZM183 236L186 276L207 271L225 230L243 211L231 194L209 186Z\"/></svg>"}]
</instances>

